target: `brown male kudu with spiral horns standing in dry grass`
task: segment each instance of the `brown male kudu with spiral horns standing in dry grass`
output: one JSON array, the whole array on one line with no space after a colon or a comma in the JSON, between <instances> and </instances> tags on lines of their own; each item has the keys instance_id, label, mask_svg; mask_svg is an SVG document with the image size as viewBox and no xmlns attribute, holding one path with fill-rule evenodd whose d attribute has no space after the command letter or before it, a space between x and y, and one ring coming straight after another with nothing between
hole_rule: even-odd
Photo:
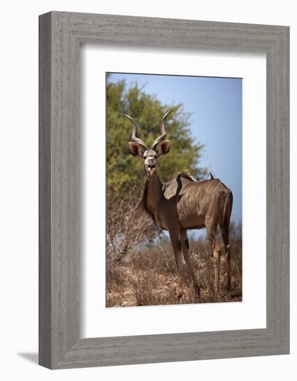
<instances>
[{"instance_id":1,"label":"brown male kudu with spiral horns standing in dry grass","mask_svg":"<svg viewBox=\"0 0 297 381\"><path fill-rule=\"evenodd\" d=\"M155 224L169 231L176 265L178 267L177 296L183 295L183 262L188 267L196 293L200 290L191 260L189 258L189 240L187 229L206 228L214 254L214 287L219 292L219 267L221 249L217 241L217 227L221 229L223 245L227 255L228 279L227 289L230 289L230 243L229 224L232 211L232 192L219 179L196 181L187 172L180 172L176 178L164 183L160 181L156 171L158 157L167 154L170 149L168 140L164 140L167 132L165 121L172 112L164 114L161 122L161 135L155 139L151 150L137 136L137 124L133 118L126 116L133 123L133 134L129 143L130 153L144 159L146 181L139 209L148 213Z\"/></svg>"}]
</instances>

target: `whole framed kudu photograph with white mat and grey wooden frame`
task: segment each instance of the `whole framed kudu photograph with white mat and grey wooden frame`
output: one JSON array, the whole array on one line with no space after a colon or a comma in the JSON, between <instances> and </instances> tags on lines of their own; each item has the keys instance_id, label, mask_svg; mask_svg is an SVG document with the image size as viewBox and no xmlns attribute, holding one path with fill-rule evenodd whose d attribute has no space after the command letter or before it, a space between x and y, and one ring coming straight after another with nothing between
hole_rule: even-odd
<instances>
[{"instance_id":1,"label":"whole framed kudu photograph with white mat and grey wooden frame","mask_svg":"<svg viewBox=\"0 0 297 381\"><path fill-rule=\"evenodd\" d=\"M289 353L289 27L40 16L40 365Z\"/></svg>"}]
</instances>

